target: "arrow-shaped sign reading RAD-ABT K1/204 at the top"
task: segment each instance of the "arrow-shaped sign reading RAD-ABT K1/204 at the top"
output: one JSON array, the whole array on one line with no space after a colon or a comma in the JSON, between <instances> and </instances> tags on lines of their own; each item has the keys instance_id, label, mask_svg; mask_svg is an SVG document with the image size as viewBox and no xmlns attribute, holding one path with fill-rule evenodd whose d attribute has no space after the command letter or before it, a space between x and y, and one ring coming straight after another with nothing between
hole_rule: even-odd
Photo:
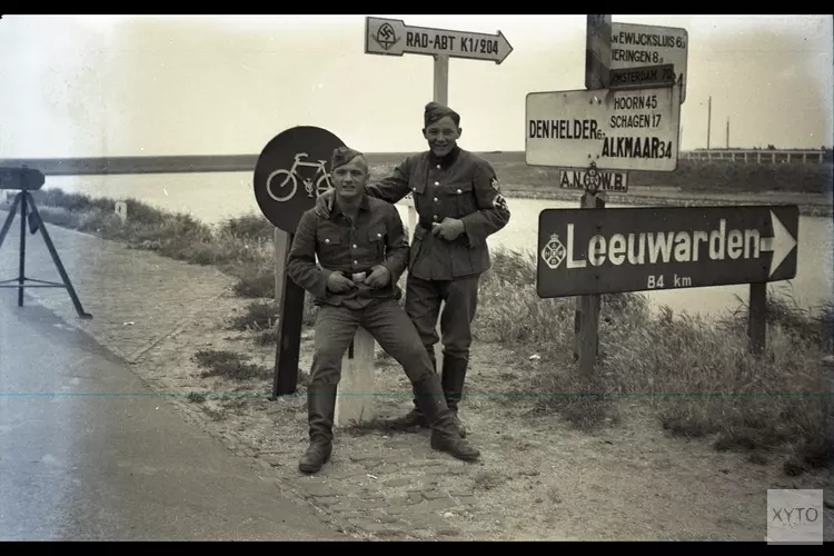
<instances>
[{"instance_id":1,"label":"arrow-shaped sign reading RAD-ABT K1/204 at the top","mask_svg":"<svg viewBox=\"0 0 834 556\"><path fill-rule=\"evenodd\" d=\"M365 19L365 53L383 56L446 54L449 58L503 62L513 47L496 34L411 27L399 19Z\"/></svg>"}]
</instances>

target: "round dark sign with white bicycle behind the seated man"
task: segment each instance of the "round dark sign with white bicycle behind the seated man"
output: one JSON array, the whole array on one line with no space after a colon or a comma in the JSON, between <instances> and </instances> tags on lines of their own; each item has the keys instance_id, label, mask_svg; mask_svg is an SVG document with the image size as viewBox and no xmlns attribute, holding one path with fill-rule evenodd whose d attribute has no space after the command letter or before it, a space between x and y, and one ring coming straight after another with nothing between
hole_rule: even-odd
<instances>
[{"instance_id":1,"label":"round dark sign with white bicycle behind the seated man","mask_svg":"<svg viewBox=\"0 0 834 556\"><path fill-rule=\"evenodd\" d=\"M295 234L301 215L332 187L330 158L345 143L326 129L299 126L264 147L255 165L255 199L276 227Z\"/></svg>"}]
</instances>

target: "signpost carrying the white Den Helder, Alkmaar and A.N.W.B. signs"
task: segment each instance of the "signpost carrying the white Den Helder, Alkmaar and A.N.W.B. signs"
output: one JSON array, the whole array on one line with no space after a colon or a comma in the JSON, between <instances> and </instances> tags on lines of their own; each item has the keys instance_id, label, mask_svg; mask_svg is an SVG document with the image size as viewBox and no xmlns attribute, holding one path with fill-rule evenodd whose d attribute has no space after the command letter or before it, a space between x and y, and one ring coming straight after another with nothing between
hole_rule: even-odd
<instances>
[{"instance_id":1,"label":"signpost carrying the white Den Helder, Alkmaar and A.N.W.B. signs","mask_svg":"<svg viewBox=\"0 0 834 556\"><path fill-rule=\"evenodd\" d=\"M678 71L674 57L612 50L613 42L678 48L674 38L669 42L615 28L609 14L588 16L586 29L586 90L528 93L525 151L530 166L584 172L579 208L599 210L605 208L600 183L606 181L600 171L677 168L684 79L681 87L673 86ZM684 52L685 42L679 43ZM614 66L615 61L620 63ZM626 189L625 181L625 177L619 180L620 190ZM559 182L570 187L566 171ZM616 178L614 182L616 187ZM599 294L594 289L580 294L575 312L574 357L586 376L593 374L598 354Z\"/></svg>"}]
</instances>

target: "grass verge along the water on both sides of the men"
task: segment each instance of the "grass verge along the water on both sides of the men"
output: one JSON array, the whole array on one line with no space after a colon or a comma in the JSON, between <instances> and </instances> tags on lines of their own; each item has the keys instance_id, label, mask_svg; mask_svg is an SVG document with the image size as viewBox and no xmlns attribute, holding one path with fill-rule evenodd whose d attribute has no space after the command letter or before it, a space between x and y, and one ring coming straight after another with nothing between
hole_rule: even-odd
<instances>
[{"instance_id":1,"label":"grass verge along the water on both sides of the men","mask_svg":"<svg viewBox=\"0 0 834 556\"><path fill-rule=\"evenodd\" d=\"M113 200L60 190L33 193L47 222L95 234L199 265L216 265L238 278L241 297L255 299L230 322L251 329L260 342L276 339L274 227L250 215L209 227L128 200L127 224ZM0 206L0 208L3 208ZM821 363L832 351L834 306L801 310L784 296L768 296L767 349L747 353L746 307L717 325L689 315L649 311L645 296L603 296L600 361L592 378L578 378L573 358L573 299L536 295L536 262L529 252L496 250L485 274L475 320L477 341L497 342L523 357L508 390L534 394L539 411L555 411L582 429L617 418L617 399L646 400L663 426L686 437L711 437L716 449L743 449L762 461L787 447L785 471L796 475L831 460L834 435L831 394ZM403 279L404 284L404 279ZM265 299L267 301L265 301ZM310 296L305 325L315 320ZM536 354L535 363L526 356ZM195 355L205 376L234 380L269 376L237 354Z\"/></svg>"}]
</instances>

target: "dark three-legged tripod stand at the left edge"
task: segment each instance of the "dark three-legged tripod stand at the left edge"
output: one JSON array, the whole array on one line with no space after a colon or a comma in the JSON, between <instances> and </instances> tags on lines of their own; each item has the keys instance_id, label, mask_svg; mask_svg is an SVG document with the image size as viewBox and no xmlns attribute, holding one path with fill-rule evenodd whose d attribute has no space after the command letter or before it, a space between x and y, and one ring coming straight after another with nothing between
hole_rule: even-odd
<instances>
[{"instance_id":1,"label":"dark three-legged tripod stand at the left edge","mask_svg":"<svg viewBox=\"0 0 834 556\"><path fill-rule=\"evenodd\" d=\"M3 227L0 228L0 247L3 246L3 240L6 239L6 235L9 232L9 228L11 228L11 222L12 220L14 220L18 207L20 207L20 272L17 278L0 281L0 288L18 288L18 307L23 307L23 288L66 288L70 295L70 298L72 299L72 305L76 306L78 316L82 319L92 318L92 315L90 315L89 312L85 312L83 308L81 307L81 301L78 299L78 295L76 295L76 289L72 287L72 282L70 281L69 276L67 276L67 270L64 270L63 265L61 264L61 258L58 256L58 251L56 251L54 245L52 244L52 238L49 237L47 227L44 226L43 220L41 220L40 218L38 208L34 206L34 199L27 189L21 190L14 197L14 200L11 203L9 216L6 217ZM49 254L52 256L52 261L58 268L58 274L61 275L63 284L36 280L34 278L26 277L27 208L31 210L31 214L29 214L29 228L32 234L40 230L41 236L43 236L43 242L47 244L47 249L49 249ZM14 281L17 281L18 284L10 284ZM27 281L36 284L26 284Z\"/></svg>"}]
</instances>

